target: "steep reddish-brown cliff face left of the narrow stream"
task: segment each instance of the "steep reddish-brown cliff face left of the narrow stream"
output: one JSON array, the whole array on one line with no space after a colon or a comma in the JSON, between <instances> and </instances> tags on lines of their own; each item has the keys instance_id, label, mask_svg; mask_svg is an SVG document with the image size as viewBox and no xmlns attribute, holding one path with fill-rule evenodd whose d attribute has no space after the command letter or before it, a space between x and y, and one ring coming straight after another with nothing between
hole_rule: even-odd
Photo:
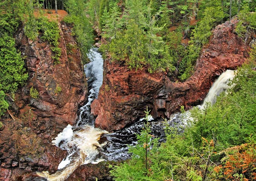
<instances>
[{"instance_id":1,"label":"steep reddish-brown cliff face left of the narrow stream","mask_svg":"<svg viewBox=\"0 0 256 181\"><path fill-rule=\"evenodd\" d=\"M51 45L40 36L28 40L23 28L16 35L29 78L15 99L9 98L9 114L1 120L0 180L23 180L28 177L24 173L36 170L55 172L65 157L64 151L52 145L52 138L67 124L75 123L78 108L87 98L81 54L71 28L59 24L59 64L52 59ZM30 96L31 87L39 93L38 98Z\"/></svg>"}]
</instances>

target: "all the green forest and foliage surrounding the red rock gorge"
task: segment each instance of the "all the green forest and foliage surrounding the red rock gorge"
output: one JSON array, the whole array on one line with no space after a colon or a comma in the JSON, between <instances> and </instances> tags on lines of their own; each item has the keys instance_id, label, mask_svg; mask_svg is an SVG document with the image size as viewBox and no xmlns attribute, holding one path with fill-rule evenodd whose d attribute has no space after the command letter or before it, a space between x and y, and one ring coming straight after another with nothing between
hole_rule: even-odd
<instances>
[{"instance_id":1,"label":"all the green forest and foliage surrounding the red rock gorge","mask_svg":"<svg viewBox=\"0 0 256 181\"><path fill-rule=\"evenodd\" d=\"M28 39L40 36L48 41L54 63L59 63L59 24L46 18L45 14L52 13L48 9L56 9L57 16L59 9L68 12L63 21L72 24L84 63L96 32L105 59L125 63L130 69L166 72L174 81L186 81L193 74L218 24L238 18L236 33L241 41L256 30L255 0L3 0L0 116L28 78L24 55L15 45L20 26ZM109 166L114 180L256 180L255 42L250 46L250 58L238 68L232 88L214 105L192 109L183 133L166 126L166 142L159 143L145 124L137 145L130 147L131 159ZM30 96L36 98L37 90L31 89Z\"/></svg>"}]
</instances>

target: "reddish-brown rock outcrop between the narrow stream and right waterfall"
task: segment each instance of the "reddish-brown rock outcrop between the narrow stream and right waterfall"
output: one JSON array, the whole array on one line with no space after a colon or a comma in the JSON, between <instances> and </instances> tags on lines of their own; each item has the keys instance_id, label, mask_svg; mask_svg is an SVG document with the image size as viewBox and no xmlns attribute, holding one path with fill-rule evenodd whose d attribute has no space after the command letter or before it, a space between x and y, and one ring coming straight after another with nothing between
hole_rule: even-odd
<instances>
[{"instance_id":1,"label":"reddish-brown rock outcrop between the narrow stream and right waterfall","mask_svg":"<svg viewBox=\"0 0 256 181\"><path fill-rule=\"evenodd\" d=\"M198 105L217 76L241 66L249 56L249 46L235 33L236 24L234 18L213 30L197 59L195 73L183 83L172 82L165 73L128 70L123 64L106 60L103 85L91 105L96 126L108 131L121 129L143 117L146 106L154 118L169 118L180 105L186 109Z\"/></svg>"}]
</instances>

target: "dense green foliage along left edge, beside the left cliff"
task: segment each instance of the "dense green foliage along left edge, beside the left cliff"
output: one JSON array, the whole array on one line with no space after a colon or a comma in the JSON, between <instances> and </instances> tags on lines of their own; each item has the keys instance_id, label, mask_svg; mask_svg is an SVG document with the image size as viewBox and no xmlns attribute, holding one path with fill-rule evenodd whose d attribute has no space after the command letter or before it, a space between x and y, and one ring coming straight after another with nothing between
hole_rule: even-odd
<instances>
[{"instance_id":1,"label":"dense green foliage along left edge, beside the left cliff","mask_svg":"<svg viewBox=\"0 0 256 181\"><path fill-rule=\"evenodd\" d=\"M28 74L24 61L15 48L13 34L20 24L20 1L0 3L0 116L8 108L6 94L12 94L19 85L24 85ZM16 9L17 11L14 11Z\"/></svg>"}]
</instances>

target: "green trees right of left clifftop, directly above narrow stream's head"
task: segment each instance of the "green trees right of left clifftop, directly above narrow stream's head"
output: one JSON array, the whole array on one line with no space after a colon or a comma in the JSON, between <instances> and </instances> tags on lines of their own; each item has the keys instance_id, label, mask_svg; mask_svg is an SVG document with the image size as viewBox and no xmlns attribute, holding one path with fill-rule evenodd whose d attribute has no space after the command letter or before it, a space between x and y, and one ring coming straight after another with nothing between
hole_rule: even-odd
<instances>
[{"instance_id":1,"label":"green trees right of left clifftop, directly above narrow stream's head","mask_svg":"<svg viewBox=\"0 0 256 181\"><path fill-rule=\"evenodd\" d=\"M87 60L88 50L93 44L93 29L89 22L89 18L84 13L86 4L81 0L67 0L65 7L69 15L64 18L67 23L74 24L73 32L76 35L76 42L82 53L83 62Z\"/></svg>"}]
</instances>

